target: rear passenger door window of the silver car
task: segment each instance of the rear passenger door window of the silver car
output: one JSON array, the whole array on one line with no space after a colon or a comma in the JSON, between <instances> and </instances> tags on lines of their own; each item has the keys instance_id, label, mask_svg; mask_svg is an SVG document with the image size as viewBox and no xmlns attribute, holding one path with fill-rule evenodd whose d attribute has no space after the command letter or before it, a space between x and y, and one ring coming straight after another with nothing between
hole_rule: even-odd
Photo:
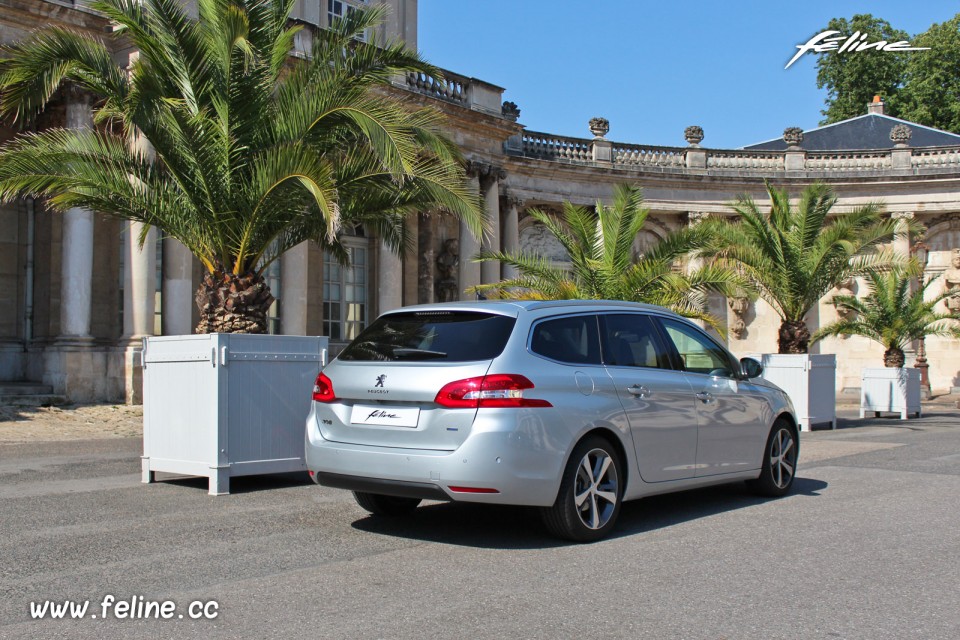
<instances>
[{"instance_id":1,"label":"rear passenger door window of the silver car","mask_svg":"<svg viewBox=\"0 0 960 640\"><path fill-rule=\"evenodd\" d=\"M611 313L601 316L603 362L614 367L670 369L670 356L650 316Z\"/></svg>"}]
</instances>

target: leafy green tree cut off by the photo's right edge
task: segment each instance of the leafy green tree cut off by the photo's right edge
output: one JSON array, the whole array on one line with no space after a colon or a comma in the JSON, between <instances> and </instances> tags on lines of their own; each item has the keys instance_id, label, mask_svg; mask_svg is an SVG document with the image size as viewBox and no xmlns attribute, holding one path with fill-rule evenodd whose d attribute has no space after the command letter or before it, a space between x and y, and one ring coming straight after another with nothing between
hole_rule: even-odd
<instances>
[{"instance_id":1,"label":"leafy green tree cut off by the photo's right edge","mask_svg":"<svg viewBox=\"0 0 960 640\"><path fill-rule=\"evenodd\" d=\"M898 116L960 133L960 14L932 25L912 44L930 50L907 58L903 90L895 102Z\"/></svg>"}]
</instances>

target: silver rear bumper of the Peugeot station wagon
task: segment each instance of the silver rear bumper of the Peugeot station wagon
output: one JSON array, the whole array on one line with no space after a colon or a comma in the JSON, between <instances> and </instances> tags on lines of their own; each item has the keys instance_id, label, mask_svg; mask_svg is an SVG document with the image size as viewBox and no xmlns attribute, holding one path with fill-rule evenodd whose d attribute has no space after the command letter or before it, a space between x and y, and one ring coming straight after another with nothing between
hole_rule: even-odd
<instances>
[{"instance_id":1,"label":"silver rear bumper of the Peugeot station wagon","mask_svg":"<svg viewBox=\"0 0 960 640\"><path fill-rule=\"evenodd\" d=\"M527 425L526 427L529 427ZM403 497L551 506L556 500L566 452L537 430L505 427L482 415L455 451L349 444L320 435L313 411L307 418L307 469L318 484ZM453 491L450 487L459 490ZM495 489L496 493L470 493Z\"/></svg>"}]
</instances>

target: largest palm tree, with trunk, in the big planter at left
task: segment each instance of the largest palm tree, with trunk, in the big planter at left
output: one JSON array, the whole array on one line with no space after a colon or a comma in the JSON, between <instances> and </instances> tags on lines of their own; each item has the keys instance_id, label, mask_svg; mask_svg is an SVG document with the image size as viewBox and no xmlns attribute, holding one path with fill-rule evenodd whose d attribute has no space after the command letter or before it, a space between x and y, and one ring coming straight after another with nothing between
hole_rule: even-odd
<instances>
[{"instance_id":1,"label":"largest palm tree, with trunk, in the big planter at left","mask_svg":"<svg viewBox=\"0 0 960 640\"><path fill-rule=\"evenodd\" d=\"M481 233L479 199L439 114L383 89L397 73L437 70L400 43L358 40L383 7L352 12L292 58L293 4L199 0L195 20L177 0L93 2L111 37L139 51L129 68L105 42L61 28L4 48L5 117L29 120L72 87L96 97L98 126L5 145L0 199L43 196L176 238L207 272L201 333L263 332L266 267L305 240L345 261L342 226L365 225L399 251L405 215L429 207Z\"/></svg>"}]
</instances>

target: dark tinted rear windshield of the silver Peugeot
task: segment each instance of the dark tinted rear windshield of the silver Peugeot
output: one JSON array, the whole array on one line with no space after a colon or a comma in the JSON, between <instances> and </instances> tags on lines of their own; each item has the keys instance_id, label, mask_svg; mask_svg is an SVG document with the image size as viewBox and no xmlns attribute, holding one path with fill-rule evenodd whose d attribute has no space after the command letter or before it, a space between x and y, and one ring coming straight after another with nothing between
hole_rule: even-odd
<instances>
[{"instance_id":1,"label":"dark tinted rear windshield of the silver Peugeot","mask_svg":"<svg viewBox=\"0 0 960 640\"><path fill-rule=\"evenodd\" d=\"M491 360L515 318L471 311L419 311L378 318L338 356L352 361Z\"/></svg>"}]
</instances>

